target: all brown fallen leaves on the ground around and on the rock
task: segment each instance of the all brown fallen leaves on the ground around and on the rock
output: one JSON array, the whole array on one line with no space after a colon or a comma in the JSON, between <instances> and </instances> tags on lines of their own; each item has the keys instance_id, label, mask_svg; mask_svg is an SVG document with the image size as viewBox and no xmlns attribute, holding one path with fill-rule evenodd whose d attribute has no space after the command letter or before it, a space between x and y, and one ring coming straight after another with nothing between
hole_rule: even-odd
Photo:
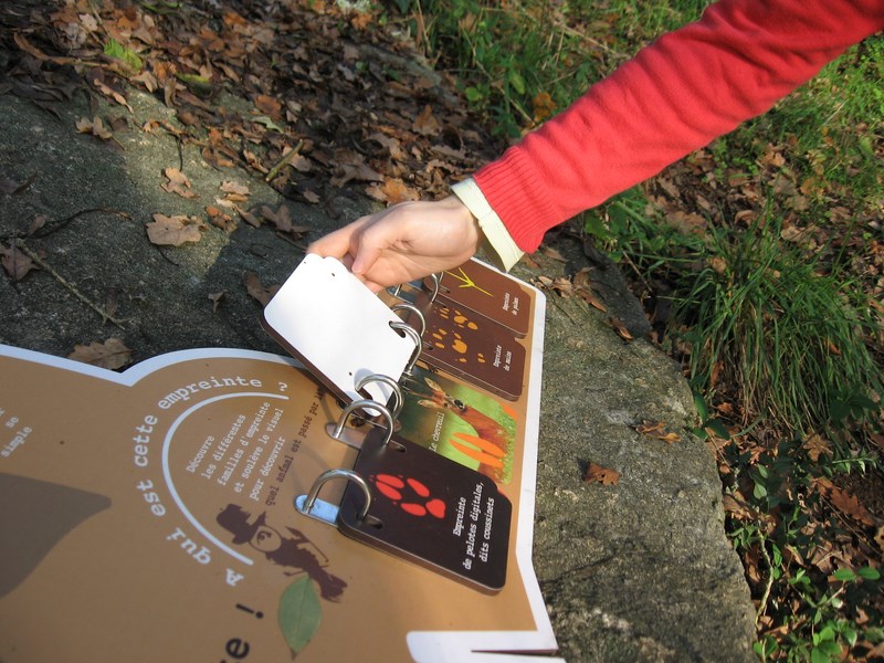
<instances>
[{"instance_id":1,"label":"all brown fallen leaves on the ground around and on the rock","mask_svg":"<svg viewBox=\"0 0 884 663\"><path fill-rule=\"evenodd\" d=\"M323 206L332 217L338 215L336 199L340 196L365 196L385 204L443 196L452 181L504 147L481 118L467 112L465 101L453 92L453 82L422 65L417 53L411 41L385 24L382 13L319 1L204 0L185 6L168 0L66 0L48 6L35 0L6 0L0 8L0 94L27 98L50 114L56 113L56 105L85 95L94 112L81 118L77 130L95 140L113 143L115 133L124 129L164 131L182 146L198 146L213 168L248 169L284 197ZM155 95L175 110L178 122L157 119L131 126L127 97L133 88ZM116 112L102 112L97 99ZM789 168L786 146L753 149L757 158L751 176L745 169L722 167L715 146L698 151L646 185L651 204L641 212L680 231L703 234L709 223L725 218L749 228L761 213L759 201L775 200L785 219L780 229L785 241L809 251L824 248L828 253L852 255L852 267L866 292L873 302L880 299L884 293L884 243L865 242L862 253L851 253L857 235L841 232L848 224L859 223L880 234L880 208L849 212L840 203L841 193L825 183L824 173ZM157 177L157 186L169 196L192 197L183 164ZM2 194L14 194L29 185L28 178L0 172ZM811 227L802 211L821 196L829 199L828 223ZM28 221L29 232L40 231L40 219ZM248 190L231 185L219 201L206 206L203 218L157 214L147 231L156 244L180 244L198 241L206 223L227 232L242 223L271 224L294 241L308 230L284 207L251 208ZM544 251L557 257L556 242L575 239L582 242L582 229L566 227L550 238ZM14 238L0 240L7 277L23 278L35 266L33 259L15 249ZM588 248L588 253L593 251ZM529 257L527 262L532 264ZM629 267L624 270L628 273ZM644 282L638 270L631 275L654 325L652 335L662 341L670 313L666 297L661 296L666 284ZM580 297L608 316L613 333L627 343L632 339L633 333L608 313L592 287L589 270L556 280L538 272L536 283L554 298ZM253 284L253 295L261 298L267 293L261 284ZM884 336L880 333L872 341L881 357ZM118 357L124 350L93 348L86 356ZM726 394L727 385L722 387ZM747 419L743 404L735 400L724 398L711 407L714 417L707 419L734 422L730 432ZM665 422L645 422L639 432L678 442ZM747 532L755 528L749 534L760 533L764 541L789 519L786 526L809 537L815 532L814 541L827 541L824 546L814 543L811 557L794 546L777 549L789 560L786 566L791 567L793 578L880 567L884 556L880 471L830 478L801 474L802 467L833 455L832 443L819 435L782 445L774 430L759 429L733 442L725 440L720 433L727 432L720 429L709 428L706 433L730 486L725 505L734 522L745 523ZM871 440L884 446L880 434ZM769 456L768 465L780 467L781 474L740 473L740 469L757 467L762 456ZM781 461L779 465L776 459ZM590 465L587 481L614 486L612 472ZM767 494L788 499L782 504L771 499L770 509L760 513L758 501ZM824 537L819 536L822 532ZM744 564L760 607L759 632L771 633L781 629L781 622L765 617L766 603L777 601L782 610L800 614L801 607L790 607L790 602L803 601L808 594L798 590L772 594L770 569L777 565L768 558L770 547L762 544L747 546L747 550ZM861 582L851 583L845 575L842 579L839 596L862 590ZM880 597L861 599L850 615L854 623L867 624L884 613ZM875 643L862 652L869 660L884 656Z\"/></svg>"}]
</instances>

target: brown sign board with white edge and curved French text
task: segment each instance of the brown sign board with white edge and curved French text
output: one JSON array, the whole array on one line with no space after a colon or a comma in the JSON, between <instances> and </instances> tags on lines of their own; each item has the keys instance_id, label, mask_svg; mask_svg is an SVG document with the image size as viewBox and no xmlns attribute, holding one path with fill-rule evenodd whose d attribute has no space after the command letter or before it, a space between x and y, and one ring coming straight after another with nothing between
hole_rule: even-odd
<instances>
[{"instance_id":1,"label":"brown sign board with white edge and curved French text","mask_svg":"<svg viewBox=\"0 0 884 663\"><path fill-rule=\"evenodd\" d=\"M117 373L0 346L0 371L4 663L343 661L355 642L385 661L555 650L530 566L538 361L501 419L513 514L496 594L294 508L357 452L326 433L335 399L288 360L192 350ZM448 380L436 389L457 400ZM420 398L443 408L424 386ZM430 430L442 414L414 408ZM456 449L484 459L490 429L455 420L473 421L451 433ZM322 498L339 503L344 488Z\"/></svg>"}]
</instances>

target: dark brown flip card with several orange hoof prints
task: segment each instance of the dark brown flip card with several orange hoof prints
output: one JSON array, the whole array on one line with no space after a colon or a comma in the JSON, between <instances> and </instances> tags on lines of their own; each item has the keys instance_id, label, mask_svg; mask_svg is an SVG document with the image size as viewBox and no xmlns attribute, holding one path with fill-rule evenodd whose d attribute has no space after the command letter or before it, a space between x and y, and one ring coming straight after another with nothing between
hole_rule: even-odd
<instances>
[{"instance_id":1,"label":"dark brown flip card with several orange hoof prints","mask_svg":"<svg viewBox=\"0 0 884 663\"><path fill-rule=\"evenodd\" d=\"M467 308L424 296L415 303L423 313L421 359L507 400L522 396L525 347L513 334ZM409 316L412 323L413 316Z\"/></svg>"}]
</instances>

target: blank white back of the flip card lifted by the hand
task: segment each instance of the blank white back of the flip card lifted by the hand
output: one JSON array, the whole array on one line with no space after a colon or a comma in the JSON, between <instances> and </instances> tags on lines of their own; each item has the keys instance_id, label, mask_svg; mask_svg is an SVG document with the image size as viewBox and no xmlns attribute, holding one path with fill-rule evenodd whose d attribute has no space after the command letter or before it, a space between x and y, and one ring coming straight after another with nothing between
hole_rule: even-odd
<instances>
[{"instance_id":1,"label":"blank white back of the flip card lifted by the hand","mask_svg":"<svg viewBox=\"0 0 884 663\"><path fill-rule=\"evenodd\" d=\"M356 386L372 375L398 382L418 348L390 326L401 323L389 306L334 257L307 254L264 307L264 328L335 396L365 398ZM387 403L382 381L362 391Z\"/></svg>"}]
</instances>

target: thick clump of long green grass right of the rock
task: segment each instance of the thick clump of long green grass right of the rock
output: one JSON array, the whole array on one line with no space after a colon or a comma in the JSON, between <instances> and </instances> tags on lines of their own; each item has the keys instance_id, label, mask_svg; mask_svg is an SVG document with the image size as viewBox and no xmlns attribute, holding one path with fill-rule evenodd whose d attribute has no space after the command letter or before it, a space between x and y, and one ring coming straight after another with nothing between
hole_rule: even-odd
<instances>
[{"instance_id":1,"label":"thick clump of long green grass right of the rock","mask_svg":"<svg viewBox=\"0 0 884 663\"><path fill-rule=\"evenodd\" d=\"M852 301L846 275L779 236L776 220L719 230L704 266L680 275L675 319L695 389L738 386L749 418L799 433L841 423L848 402L874 417L881 367L864 343L875 324L867 307Z\"/></svg>"}]
</instances>

